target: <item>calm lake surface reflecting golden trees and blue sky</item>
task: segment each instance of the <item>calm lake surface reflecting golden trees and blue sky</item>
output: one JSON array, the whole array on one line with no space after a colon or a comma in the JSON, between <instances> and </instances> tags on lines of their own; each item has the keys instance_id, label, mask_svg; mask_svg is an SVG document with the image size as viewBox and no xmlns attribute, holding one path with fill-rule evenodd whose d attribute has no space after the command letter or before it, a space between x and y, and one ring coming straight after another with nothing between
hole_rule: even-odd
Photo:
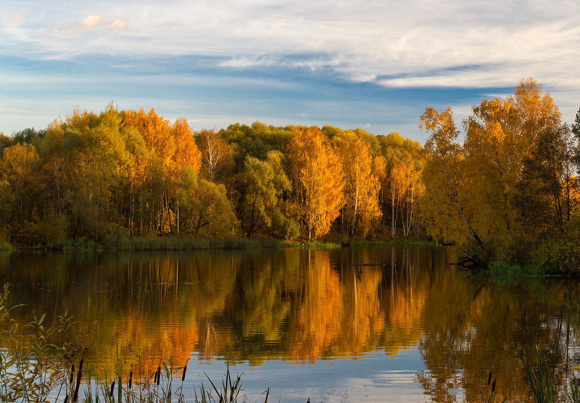
<instances>
[{"instance_id":1,"label":"calm lake surface reflecting golden trees and blue sky","mask_svg":"<svg viewBox=\"0 0 580 403\"><path fill-rule=\"evenodd\" d=\"M68 310L96 366L153 372L191 357L186 389L226 363L248 401L481 401L490 369L529 395L521 355L539 346L561 384L580 365L580 284L494 281L434 248L164 253L0 253L16 317ZM357 264L375 264L357 266ZM357 276L357 273L362 270ZM205 379L205 378L204 378Z\"/></svg>"}]
</instances>

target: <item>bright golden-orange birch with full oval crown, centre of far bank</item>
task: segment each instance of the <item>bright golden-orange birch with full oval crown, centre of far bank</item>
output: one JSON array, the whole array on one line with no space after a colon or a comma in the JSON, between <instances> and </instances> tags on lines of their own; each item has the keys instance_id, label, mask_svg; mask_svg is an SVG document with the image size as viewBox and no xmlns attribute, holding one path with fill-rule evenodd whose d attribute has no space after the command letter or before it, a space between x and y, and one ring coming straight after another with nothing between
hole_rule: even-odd
<instances>
[{"instance_id":1,"label":"bright golden-orange birch with full oval crown, centre of far bank","mask_svg":"<svg viewBox=\"0 0 580 403\"><path fill-rule=\"evenodd\" d=\"M296 126L289 144L296 217L308 239L327 234L343 206L342 164L317 126Z\"/></svg>"}]
</instances>

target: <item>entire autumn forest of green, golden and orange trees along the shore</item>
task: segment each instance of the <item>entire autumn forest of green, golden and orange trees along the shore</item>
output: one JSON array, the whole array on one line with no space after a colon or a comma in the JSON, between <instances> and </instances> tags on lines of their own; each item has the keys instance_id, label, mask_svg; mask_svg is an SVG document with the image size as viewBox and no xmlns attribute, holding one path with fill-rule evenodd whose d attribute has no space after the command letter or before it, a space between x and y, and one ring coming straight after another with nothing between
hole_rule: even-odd
<instances>
[{"instance_id":1,"label":"entire autumn forest of green, golden and orange trees along the shore","mask_svg":"<svg viewBox=\"0 0 580 403\"><path fill-rule=\"evenodd\" d=\"M424 145L256 121L194 130L151 108L82 110L0 133L0 244L133 237L433 240L473 264L580 273L580 110L528 78L461 122L427 107Z\"/></svg>"}]
</instances>

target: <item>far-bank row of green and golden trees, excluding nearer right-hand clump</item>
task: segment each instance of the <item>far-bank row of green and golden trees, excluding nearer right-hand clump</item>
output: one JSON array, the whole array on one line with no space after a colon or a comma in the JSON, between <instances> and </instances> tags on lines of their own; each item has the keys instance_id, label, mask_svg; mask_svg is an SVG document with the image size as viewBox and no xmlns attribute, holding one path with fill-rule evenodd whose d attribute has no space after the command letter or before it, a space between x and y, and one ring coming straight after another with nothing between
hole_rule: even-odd
<instances>
[{"instance_id":1,"label":"far-bank row of green and golden trees, excluding nearer right-hand clump","mask_svg":"<svg viewBox=\"0 0 580 403\"><path fill-rule=\"evenodd\" d=\"M1 135L0 153L0 238L14 245L419 234L425 158L398 133L259 121L194 131L110 104Z\"/></svg>"}]
</instances>

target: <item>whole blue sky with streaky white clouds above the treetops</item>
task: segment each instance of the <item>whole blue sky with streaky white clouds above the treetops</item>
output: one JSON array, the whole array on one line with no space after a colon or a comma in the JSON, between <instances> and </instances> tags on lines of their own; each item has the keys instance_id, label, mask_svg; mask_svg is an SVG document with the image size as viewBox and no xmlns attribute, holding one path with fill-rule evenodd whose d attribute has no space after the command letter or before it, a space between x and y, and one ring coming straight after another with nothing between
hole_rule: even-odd
<instances>
[{"instance_id":1,"label":"whole blue sky with streaky white clouds above the treetops","mask_svg":"<svg viewBox=\"0 0 580 403\"><path fill-rule=\"evenodd\" d=\"M423 143L425 107L460 126L528 77L571 123L579 39L578 0L2 0L0 132L113 103L195 130L259 120Z\"/></svg>"}]
</instances>

